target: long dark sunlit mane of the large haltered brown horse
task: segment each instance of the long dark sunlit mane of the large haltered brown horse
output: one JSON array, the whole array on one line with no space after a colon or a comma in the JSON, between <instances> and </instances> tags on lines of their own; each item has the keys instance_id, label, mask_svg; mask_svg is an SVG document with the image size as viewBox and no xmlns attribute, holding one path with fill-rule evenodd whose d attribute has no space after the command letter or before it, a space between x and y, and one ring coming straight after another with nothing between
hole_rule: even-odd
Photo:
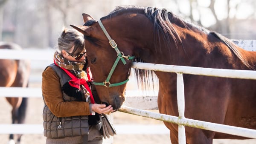
<instances>
[{"instance_id":1,"label":"long dark sunlit mane of the large haltered brown horse","mask_svg":"<svg viewBox=\"0 0 256 144\"><path fill-rule=\"evenodd\" d=\"M183 46L182 40L180 36L178 35L175 27L172 25L172 23L177 24L180 27L205 33L206 35L213 35L221 42L223 42L225 45L229 47L229 49L248 67L252 68L246 60L242 57L238 49L236 48L235 44L227 39L226 37L216 33L216 32L209 32L209 30L203 28L202 26L195 25L191 22L188 22L181 17L178 17L177 15L173 14L172 12L167 11L166 9L158 9L153 7L140 7L140 6L118 6L116 9L114 9L110 14L108 14L105 17L102 17L102 19L111 19L112 17L124 14L124 13L140 13L144 14L148 19L153 23L154 25L154 40L155 40L155 48L161 48L161 43L158 43L157 45L156 41L160 42L160 36L163 36L164 38L164 45L166 45L169 48L169 53L171 54L172 49L172 43L175 44L175 48L182 48L183 51L186 53L186 49ZM155 51L160 50L160 53L162 53L161 49L155 49ZM141 58L135 58L135 61L137 62L143 62ZM143 69L134 69L135 77L137 78L137 83L139 82L142 84L142 88L147 88L151 85L150 80L153 81L153 74L154 72L149 70L143 70ZM151 78L149 78L152 76ZM154 89L154 87L153 87Z\"/></svg>"}]
</instances>

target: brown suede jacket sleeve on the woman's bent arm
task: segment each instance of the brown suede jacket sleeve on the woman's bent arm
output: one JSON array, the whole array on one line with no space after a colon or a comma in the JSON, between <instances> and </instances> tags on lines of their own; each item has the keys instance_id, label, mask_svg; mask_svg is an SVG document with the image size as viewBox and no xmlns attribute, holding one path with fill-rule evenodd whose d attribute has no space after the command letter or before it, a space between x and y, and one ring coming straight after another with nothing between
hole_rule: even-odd
<instances>
[{"instance_id":1,"label":"brown suede jacket sleeve on the woman's bent arm","mask_svg":"<svg viewBox=\"0 0 256 144\"><path fill-rule=\"evenodd\" d=\"M42 73L42 95L52 114L57 117L90 115L88 102L64 101L60 79L51 67Z\"/></svg>"}]
</instances>

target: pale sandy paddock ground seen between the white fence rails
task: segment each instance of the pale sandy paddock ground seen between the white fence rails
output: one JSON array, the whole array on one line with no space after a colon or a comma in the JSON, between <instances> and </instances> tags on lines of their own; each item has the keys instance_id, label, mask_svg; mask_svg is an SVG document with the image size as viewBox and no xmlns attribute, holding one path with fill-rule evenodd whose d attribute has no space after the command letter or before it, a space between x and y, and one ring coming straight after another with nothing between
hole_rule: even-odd
<instances>
[{"instance_id":1,"label":"pale sandy paddock ground seen between the white fence rails","mask_svg":"<svg viewBox=\"0 0 256 144\"><path fill-rule=\"evenodd\" d=\"M31 87L40 87L41 84L30 84ZM29 98L28 111L26 116L26 124L41 124L42 123L42 98ZM0 97L0 124L11 123L12 107L7 103L6 99ZM158 112L154 110L154 112ZM115 124L161 124L162 121L157 121L149 118L143 118L136 115L129 115L123 112L113 113ZM1 127L0 127L1 129ZM0 135L0 144L8 144L9 135ZM45 137L38 134L26 134L21 139L21 144L45 144ZM124 135L117 134L113 137L113 144L171 144L169 134L161 135L143 135L132 134ZM214 140L213 144L256 144L256 139L251 140Z\"/></svg>"}]
</instances>

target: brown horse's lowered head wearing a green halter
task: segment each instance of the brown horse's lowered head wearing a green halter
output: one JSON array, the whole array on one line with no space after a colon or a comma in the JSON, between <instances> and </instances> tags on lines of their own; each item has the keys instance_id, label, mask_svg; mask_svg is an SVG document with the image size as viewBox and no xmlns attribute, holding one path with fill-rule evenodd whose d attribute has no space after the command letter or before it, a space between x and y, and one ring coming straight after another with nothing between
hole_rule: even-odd
<instances>
[{"instance_id":1,"label":"brown horse's lowered head wearing a green halter","mask_svg":"<svg viewBox=\"0 0 256 144\"><path fill-rule=\"evenodd\" d=\"M113 39L106 36L108 34L103 32L100 22L93 20L90 15L83 14L83 18L85 24L94 22L90 26L71 26L84 34L87 61L99 99L103 104L119 109L125 101L125 87L133 59L130 55L133 53L127 44L117 46L121 40L117 39L118 35L113 34L117 30L110 29L110 23L102 26Z\"/></svg>"}]
</instances>

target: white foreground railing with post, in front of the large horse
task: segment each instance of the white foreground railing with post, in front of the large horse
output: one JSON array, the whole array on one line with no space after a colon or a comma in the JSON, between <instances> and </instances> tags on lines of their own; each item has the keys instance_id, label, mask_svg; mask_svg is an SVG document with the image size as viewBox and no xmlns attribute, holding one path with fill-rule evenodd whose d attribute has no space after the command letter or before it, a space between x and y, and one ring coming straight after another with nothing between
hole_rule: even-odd
<instances>
[{"instance_id":1,"label":"white foreground railing with post, in front of the large horse","mask_svg":"<svg viewBox=\"0 0 256 144\"><path fill-rule=\"evenodd\" d=\"M198 68L198 67L191 67L191 66L160 65L160 64L152 64L152 63L133 63L133 68L177 73L177 105L178 105L179 117L171 116L171 115L162 115L158 113L147 112L144 110L133 109L129 107L122 107L122 109L120 109L119 111L179 124L179 144L186 144L184 126L196 127L204 130L212 130L212 131L227 133L231 135L239 135L239 136L248 137L248 138L256 138L256 130L227 126L223 124L215 124L215 123L204 122L204 121L197 121L197 120L185 118L184 117L185 101L184 101L184 86L183 86L184 84L183 84L183 75L182 75L182 73L184 73L184 74L192 74L192 75L209 75L209 76L215 76L215 77L242 78L242 79L256 80L256 71L210 69L210 68Z\"/></svg>"}]
</instances>

